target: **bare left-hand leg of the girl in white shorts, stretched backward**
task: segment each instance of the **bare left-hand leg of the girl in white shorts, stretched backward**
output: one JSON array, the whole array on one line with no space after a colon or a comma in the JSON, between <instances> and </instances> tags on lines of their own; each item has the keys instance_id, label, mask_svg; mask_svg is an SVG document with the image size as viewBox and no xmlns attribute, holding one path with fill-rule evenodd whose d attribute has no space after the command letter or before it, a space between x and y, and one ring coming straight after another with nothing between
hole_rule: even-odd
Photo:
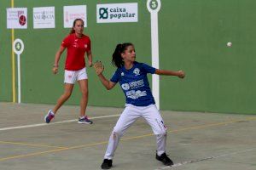
<instances>
[{"instance_id":1,"label":"bare left-hand leg of the girl in white shorts, stretched backward","mask_svg":"<svg viewBox=\"0 0 256 170\"><path fill-rule=\"evenodd\" d=\"M60 109L61 105L63 105L67 99L71 96L73 91L73 84L65 83L64 85L64 94L61 95L61 97L57 100L57 104L55 105L55 108L52 110L55 114Z\"/></svg>"}]
</instances>

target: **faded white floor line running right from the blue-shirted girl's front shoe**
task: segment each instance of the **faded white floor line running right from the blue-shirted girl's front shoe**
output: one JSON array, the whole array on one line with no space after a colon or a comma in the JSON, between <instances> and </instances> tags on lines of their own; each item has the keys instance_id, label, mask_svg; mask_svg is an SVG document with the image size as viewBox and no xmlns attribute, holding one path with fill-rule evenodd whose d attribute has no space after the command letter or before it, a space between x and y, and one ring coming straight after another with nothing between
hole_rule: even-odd
<instances>
[{"instance_id":1,"label":"faded white floor line running right from the blue-shirted girl's front shoe","mask_svg":"<svg viewBox=\"0 0 256 170\"><path fill-rule=\"evenodd\" d=\"M181 167L183 165L186 165L186 164L189 164L189 163L195 163L197 161L207 161L207 160L212 160L212 159L217 159L219 157L224 157L224 156L233 156L233 155L237 155L237 154L241 154L241 153L244 153L244 152L248 152L248 151L252 151L252 150L255 150L256 148L251 148L251 149L247 149L247 150L241 150L241 151L236 151L236 152L230 152L228 154L222 154L222 155L219 155L219 156L208 156L208 157L205 157L205 158L201 158L201 159L196 159L196 160L190 160L190 161L182 161L180 163L176 163L174 165L172 165L172 167L170 166L166 166L166 167L159 167L155 170L161 170L161 169L174 169L175 167Z\"/></svg>"}]
</instances>

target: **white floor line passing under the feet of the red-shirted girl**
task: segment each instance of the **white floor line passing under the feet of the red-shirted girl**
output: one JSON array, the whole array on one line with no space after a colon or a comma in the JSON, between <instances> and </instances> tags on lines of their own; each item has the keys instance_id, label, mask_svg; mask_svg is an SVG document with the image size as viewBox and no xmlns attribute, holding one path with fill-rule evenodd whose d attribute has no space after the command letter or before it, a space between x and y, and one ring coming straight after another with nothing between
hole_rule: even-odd
<instances>
[{"instance_id":1,"label":"white floor line passing under the feet of the red-shirted girl","mask_svg":"<svg viewBox=\"0 0 256 170\"><path fill-rule=\"evenodd\" d=\"M115 116L120 116L120 114L118 114L118 115L108 115L108 116L96 116L96 117L90 117L90 119L101 119L101 118L108 118L108 117L115 117ZM29 127L43 127L43 126L61 124L61 123L66 123L66 122L77 122L77 121L78 121L78 119L73 119L73 120L60 121L60 122L50 122L50 123L45 123L44 122L44 123L24 125L24 126L19 126L19 127L3 127L3 128L0 128L0 131L7 131L7 130L13 130L13 129L20 129L20 128L29 128Z\"/></svg>"}]
</instances>

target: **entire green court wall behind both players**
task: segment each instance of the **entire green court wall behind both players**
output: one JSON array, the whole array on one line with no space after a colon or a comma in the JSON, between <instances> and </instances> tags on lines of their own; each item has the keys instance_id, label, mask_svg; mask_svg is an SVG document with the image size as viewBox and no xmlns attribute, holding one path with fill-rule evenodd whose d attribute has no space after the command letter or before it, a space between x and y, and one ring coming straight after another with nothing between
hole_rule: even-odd
<instances>
[{"instance_id":1,"label":"entire green court wall behind both players","mask_svg":"<svg viewBox=\"0 0 256 170\"><path fill-rule=\"evenodd\" d=\"M138 3L136 23L96 23L95 0L32 1L15 0L26 7L28 29L15 30L15 38L25 43L21 54L21 101L55 104L63 92L63 67L51 73L55 52L70 29L63 28L63 6L87 5L84 33L92 41L94 60L102 60L105 76L115 68L111 55L119 42L133 42L137 60L151 64L150 14L145 1L99 3ZM32 8L55 6L55 29L33 29ZM6 29L6 8L0 4L0 101L12 101L11 31ZM160 69L183 69L187 77L160 77L160 109L255 113L256 1L254 0L161 0L159 12ZM233 47L227 48L226 42ZM92 68L88 69L89 105L122 107L125 96L119 86L103 88ZM151 76L148 75L151 80ZM79 105L79 86L67 105Z\"/></svg>"}]
</instances>

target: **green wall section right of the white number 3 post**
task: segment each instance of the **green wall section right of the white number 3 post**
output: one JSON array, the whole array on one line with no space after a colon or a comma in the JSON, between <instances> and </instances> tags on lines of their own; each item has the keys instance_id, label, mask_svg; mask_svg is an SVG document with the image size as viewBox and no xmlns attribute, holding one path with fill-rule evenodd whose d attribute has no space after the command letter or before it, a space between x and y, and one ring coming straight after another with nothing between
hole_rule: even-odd
<instances>
[{"instance_id":1,"label":"green wall section right of the white number 3 post","mask_svg":"<svg viewBox=\"0 0 256 170\"><path fill-rule=\"evenodd\" d=\"M255 113L255 8L254 0L162 1L160 67L187 77L162 79L161 109Z\"/></svg>"}]
</instances>

